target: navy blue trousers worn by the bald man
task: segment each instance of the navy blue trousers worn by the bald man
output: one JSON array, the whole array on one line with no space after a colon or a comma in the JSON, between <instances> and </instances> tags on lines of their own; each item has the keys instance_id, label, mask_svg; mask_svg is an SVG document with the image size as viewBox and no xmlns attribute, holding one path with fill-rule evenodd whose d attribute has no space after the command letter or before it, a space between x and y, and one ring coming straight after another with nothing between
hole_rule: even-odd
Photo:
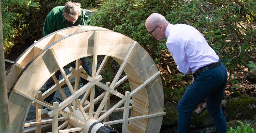
<instances>
[{"instance_id":1,"label":"navy blue trousers worn by the bald man","mask_svg":"<svg viewBox=\"0 0 256 133\"><path fill-rule=\"evenodd\" d=\"M177 105L178 133L188 133L191 124L192 111L206 99L209 115L214 119L218 133L226 133L227 123L220 108L227 83L227 70L221 63L220 66L193 74L194 81L188 86L183 97Z\"/></svg>"}]
</instances>

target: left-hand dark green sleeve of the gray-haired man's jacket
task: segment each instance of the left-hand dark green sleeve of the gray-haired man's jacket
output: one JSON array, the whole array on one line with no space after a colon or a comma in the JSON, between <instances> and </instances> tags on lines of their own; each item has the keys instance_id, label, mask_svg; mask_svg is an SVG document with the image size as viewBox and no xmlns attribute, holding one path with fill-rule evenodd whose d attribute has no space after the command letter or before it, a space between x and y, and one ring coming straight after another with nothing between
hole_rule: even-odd
<instances>
[{"instance_id":1,"label":"left-hand dark green sleeve of the gray-haired man's jacket","mask_svg":"<svg viewBox=\"0 0 256 133\"><path fill-rule=\"evenodd\" d=\"M43 36L46 36L50 33L56 31L56 18L53 14L48 14L45 18L45 24L43 27Z\"/></svg>"}]
</instances>

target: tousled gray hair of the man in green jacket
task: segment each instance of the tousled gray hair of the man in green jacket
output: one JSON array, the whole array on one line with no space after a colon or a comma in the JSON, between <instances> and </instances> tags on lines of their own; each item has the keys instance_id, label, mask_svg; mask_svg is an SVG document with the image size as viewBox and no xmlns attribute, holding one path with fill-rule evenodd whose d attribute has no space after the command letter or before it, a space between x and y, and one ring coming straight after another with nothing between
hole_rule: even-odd
<instances>
[{"instance_id":1,"label":"tousled gray hair of the man in green jacket","mask_svg":"<svg viewBox=\"0 0 256 133\"><path fill-rule=\"evenodd\" d=\"M63 8L63 13L68 17L79 17L82 14L81 4L76 2L72 3L71 1L68 1L65 7Z\"/></svg>"}]
</instances>

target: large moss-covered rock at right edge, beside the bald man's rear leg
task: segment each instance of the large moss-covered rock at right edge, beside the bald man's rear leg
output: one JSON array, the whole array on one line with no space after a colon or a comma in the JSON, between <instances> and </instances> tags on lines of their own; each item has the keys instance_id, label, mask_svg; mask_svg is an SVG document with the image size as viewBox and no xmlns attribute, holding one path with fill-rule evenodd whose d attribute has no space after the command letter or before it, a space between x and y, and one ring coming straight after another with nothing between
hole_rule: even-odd
<instances>
[{"instance_id":1,"label":"large moss-covered rock at right edge, beside the bald man's rear leg","mask_svg":"<svg viewBox=\"0 0 256 133\"><path fill-rule=\"evenodd\" d=\"M256 99L239 96L227 102L227 113L232 120L253 120L256 117Z\"/></svg>"}]
</instances>

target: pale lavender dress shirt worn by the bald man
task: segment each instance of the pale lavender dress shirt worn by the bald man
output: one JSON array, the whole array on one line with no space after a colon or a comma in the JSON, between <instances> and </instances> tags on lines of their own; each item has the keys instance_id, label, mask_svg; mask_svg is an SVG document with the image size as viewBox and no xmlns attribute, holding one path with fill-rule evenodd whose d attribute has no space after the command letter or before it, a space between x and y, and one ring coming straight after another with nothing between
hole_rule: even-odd
<instances>
[{"instance_id":1,"label":"pale lavender dress shirt worn by the bald man","mask_svg":"<svg viewBox=\"0 0 256 133\"><path fill-rule=\"evenodd\" d=\"M179 71L184 74L219 61L218 55L208 45L204 36L190 25L169 23L165 37L170 54Z\"/></svg>"}]
</instances>

